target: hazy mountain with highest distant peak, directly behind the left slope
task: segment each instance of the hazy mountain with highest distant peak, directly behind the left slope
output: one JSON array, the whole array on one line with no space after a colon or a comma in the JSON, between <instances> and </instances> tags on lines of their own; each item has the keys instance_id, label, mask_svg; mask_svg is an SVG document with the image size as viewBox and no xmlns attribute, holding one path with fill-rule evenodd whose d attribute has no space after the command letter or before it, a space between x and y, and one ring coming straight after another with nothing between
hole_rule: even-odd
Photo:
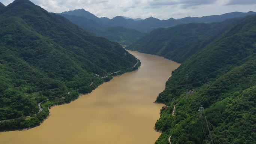
<instances>
[{"instance_id":1,"label":"hazy mountain with highest distant peak, directly behind the left slope","mask_svg":"<svg viewBox=\"0 0 256 144\"><path fill-rule=\"evenodd\" d=\"M84 30L91 31L96 36L105 37L106 39L118 42L123 46L130 45L145 35L134 29L105 25L105 21L102 18L98 18L95 15L88 13L89 12L86 10L74 10L61 13L60 15L69 19Z\"/></svg>"}]
</instances>

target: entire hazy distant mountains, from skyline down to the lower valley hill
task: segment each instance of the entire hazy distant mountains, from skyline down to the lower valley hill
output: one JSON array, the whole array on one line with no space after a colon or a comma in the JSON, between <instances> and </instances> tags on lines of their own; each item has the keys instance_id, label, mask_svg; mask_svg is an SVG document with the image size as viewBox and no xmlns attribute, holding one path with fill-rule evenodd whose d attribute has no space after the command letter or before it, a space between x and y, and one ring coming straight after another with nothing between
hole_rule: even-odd
<instances>
[{"instance_id":1,"label":"entire hazy distant mountains, from skyline down to the lower valley hill","mask_svg":"<svg viewBox=\"0 0 256 144\"><path fill-rule=\"evenodd\" d=\"M170 18L167 20L159 20L152 16L146 19L132 19L125 16L116 16L112 19L106 17L98 18L84 9L60 13L60 15L69 19L74 24L79 25L83 29L91 31L97 36L106 37L107 39L118 42L124 46L130 45L144 36L145 33L149 33L159 27L167 28L188 23L221 22L225 19L239 18L253 14L256 14L256 12L231 12L223 15L203 16L201 18L186 17L182 19Z\"/></svg>"}]
</instances>

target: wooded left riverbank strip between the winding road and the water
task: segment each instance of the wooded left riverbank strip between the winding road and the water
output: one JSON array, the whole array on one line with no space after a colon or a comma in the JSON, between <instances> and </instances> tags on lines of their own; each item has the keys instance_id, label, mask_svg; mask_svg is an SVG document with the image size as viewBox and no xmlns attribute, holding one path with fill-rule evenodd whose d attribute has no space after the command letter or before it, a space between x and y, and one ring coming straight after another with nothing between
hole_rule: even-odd
<instances>
[{"instance_id":1,"label":"wooded left riverbank strip between the winding road and the water","mask_svg":"<svg viewBox=\"0 0 256 144\"><path fill-rule=\"evenodd\" d=\"M136 64L133 65L133 67L119 70L118 73L107 74L103 79L99 77L95 77L95 80L97 82L95 83L92 82L91 85L88 86L89 89L91 89L89 90L89 93L91 93L94 89L98 88L98 86L100 86L104 82L110 81L113 78L112 76L116 77L116 76L120 76L121 74L137 70L140 67L140 65L141 65L140 60L137 59L137 62ZM94 85L92 86L92 84ZM68 104L78 99L81 95L85 95L85 94L78 94L77 91L69 91L67 95L71 95L71 99L69 99L68 101L66 101L65 96L58 96L56 98L49 98L49 99L43 100L42 102L39 102L37 104L39 107L39 112L33 115L22 116L17 119L7 119L7 120L0 121L0 132L15 131L15 130L23 131L23 130L27 130L27 129L31 129L36 126L39 126L50 116L49 109L51 109L51 107L56 105ZM41 104L42 104L42 107L41 107ZM23 126L18 126L18 123L22 123Z\"/></svg>"}]
</instances>

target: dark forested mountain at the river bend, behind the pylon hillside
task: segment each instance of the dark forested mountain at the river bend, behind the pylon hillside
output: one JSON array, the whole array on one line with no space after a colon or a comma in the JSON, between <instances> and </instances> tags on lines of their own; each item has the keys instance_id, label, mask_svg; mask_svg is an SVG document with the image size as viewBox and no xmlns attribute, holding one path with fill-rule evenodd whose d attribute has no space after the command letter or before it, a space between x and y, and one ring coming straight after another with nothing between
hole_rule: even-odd
<instances>
[{"instance_id":1,"label":"dark forested mountain at the river bend, behind the pylon hillside","mask_svg":"<svg viewBox=\"0 0 256 144\"><path fill-rule=\"evenodd\" d=\"M239 19L157 28L126 48L183 62L224 33L236 21Z\"/></svg>"}]
</instances>

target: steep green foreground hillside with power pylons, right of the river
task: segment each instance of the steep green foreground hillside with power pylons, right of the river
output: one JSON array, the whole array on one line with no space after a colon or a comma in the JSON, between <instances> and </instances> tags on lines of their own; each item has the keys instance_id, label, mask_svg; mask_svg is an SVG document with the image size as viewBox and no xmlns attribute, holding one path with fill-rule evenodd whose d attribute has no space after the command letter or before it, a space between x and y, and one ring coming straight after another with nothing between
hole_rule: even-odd
<instances>
[{"instance_id":1,"label":"steep green foreground hillside with power pylons, right of the river","mask_svg":"<svg viewBox=\"0 0 256 144\"><path fill-rule=\"evenodd\" d=\"M155 125L163 132L156 144L168 144L169 138L174 144L204 144L211 138L214 144L254 144L255 92L256 16L250 16L173 71L156 99L168 106ZM198 112L201 105L203 124Z\"/></svg>"}]
</instances>

